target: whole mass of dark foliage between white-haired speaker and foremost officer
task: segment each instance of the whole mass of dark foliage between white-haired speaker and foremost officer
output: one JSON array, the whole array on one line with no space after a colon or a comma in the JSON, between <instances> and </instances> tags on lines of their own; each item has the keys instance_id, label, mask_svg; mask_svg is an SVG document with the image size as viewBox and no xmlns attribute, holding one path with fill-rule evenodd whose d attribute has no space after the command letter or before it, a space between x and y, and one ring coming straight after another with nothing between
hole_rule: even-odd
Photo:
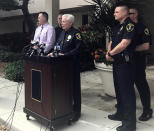
<instances>
[{"instance_id":1,"label":"whole mass of dark foliage between white-haired speaker and foremost officer","mask_svg":"<svg viewBox=\"0 0 154 131\"><path fill-rule=\"evenodd\" d=\"M94 57L91 55L97 49L106 50L106 38L110 36L115 24L113 0L92 0L95 5L90 15L90 23L79 27L83 44L81 45L81 71L94 69Z\"/></svg>"}]
</instances>

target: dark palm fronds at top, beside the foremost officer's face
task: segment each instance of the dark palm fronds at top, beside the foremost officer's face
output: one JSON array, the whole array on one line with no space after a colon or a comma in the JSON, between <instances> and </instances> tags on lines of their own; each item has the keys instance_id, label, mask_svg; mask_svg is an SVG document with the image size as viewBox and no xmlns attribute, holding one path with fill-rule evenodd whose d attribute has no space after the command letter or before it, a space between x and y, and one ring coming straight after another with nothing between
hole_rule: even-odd
<instances>
[{"instance_id":1,"label":"dark palm fronds at top, beside the foremost officer's face","mask_svg":"<svg viewBox=\"0 0 154 131\"><path fill-rule=\"evenodd\" d=\"M115 0L92 0L95 5L95 11L91 15L91 23L93 31L97 31L97 34L103 34L106 36L111 35L112 27L115 25L115 19L113 16ZM100 43L101 44L101 43ZM106 43L104 44L104 47Z\"/></svg>"}]
</instances>

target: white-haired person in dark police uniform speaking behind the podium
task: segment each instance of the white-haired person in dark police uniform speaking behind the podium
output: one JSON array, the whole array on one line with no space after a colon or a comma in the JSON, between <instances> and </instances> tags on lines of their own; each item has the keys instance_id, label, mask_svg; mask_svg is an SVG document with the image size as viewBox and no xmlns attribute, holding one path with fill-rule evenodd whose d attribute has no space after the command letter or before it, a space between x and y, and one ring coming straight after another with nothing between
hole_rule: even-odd
<instances>
[{"instance_id":1,"label":"white-haired person in dark police uniform speaking behind the podium","mask_svg":"<svg viewBox=\"0 0 154 131\"><path fill-rule=\"evenodd\" d=\"M82 43L80 32L73 27L74 16L64 14L62 16L62 29L56 45L59 47L57 55L72 55L73 56L73 101L74 101L74 118L77 121L81 115L81 86L80 86L80 61L79 48ZM50 53L48 56L53 57L55 53Z\"/></svg>"}]
</instances>

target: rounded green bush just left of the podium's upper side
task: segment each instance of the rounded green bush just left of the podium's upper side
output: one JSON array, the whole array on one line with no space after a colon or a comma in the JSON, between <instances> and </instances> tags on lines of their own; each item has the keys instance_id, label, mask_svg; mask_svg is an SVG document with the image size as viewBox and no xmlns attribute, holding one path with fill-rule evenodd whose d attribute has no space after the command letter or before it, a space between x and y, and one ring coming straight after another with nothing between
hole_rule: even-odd
<instances>
[{"instance_id":1,"label":"rounded green bush just left of the podium's upper side","mask_svg":"<svg viewBox=\"0 0 154 131\"><path fill-rule=\"evenodd\" d=\"M21 82L24 80L24 64L22 60L12 62L4 69L5 77L9 80Z\"/></svg>"}]
</instances>

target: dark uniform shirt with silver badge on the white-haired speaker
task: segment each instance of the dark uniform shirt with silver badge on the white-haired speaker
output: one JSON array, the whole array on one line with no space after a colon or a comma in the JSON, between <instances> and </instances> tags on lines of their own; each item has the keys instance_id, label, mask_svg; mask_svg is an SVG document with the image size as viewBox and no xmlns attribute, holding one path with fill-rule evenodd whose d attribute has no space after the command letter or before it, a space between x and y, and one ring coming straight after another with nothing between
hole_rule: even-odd
<instances>
[{"instance_id":1,"label":"dark uniform shirt with silver badge on the white-haired speaker","mask_svg":"<svg viewBox=\"0 0 154 131\"><path fill-rule=\"evenodd\" d=\"M61 53L64 53L64 55L78 54L81 43L80 32L74 27L67 31L63 30L57 40L57 44L61 46Z\"/></svg>"}]
</instances>

